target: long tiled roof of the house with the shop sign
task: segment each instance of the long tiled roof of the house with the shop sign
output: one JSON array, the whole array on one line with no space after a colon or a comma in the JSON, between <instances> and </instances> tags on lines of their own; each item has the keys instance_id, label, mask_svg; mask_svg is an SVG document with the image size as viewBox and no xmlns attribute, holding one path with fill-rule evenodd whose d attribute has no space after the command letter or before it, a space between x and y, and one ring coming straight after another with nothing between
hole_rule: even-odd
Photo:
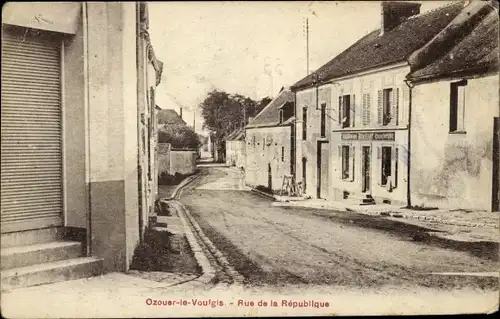
<instances>
[{"instance_id":1,"label":"long tiled roof of the house with the shop sign","mask_svg":"<svg viewBox=\"0 0 500 319\"><path fill-rule=\"evenodd\" d=\"M459 1L411 17L381 36L380 29L369 33L320 67L315 72L318 82L405 61L446 27L463 7L464 2ZM295 83L292 90L311 85L313 73Z\"/></svg>"}]
</instances>

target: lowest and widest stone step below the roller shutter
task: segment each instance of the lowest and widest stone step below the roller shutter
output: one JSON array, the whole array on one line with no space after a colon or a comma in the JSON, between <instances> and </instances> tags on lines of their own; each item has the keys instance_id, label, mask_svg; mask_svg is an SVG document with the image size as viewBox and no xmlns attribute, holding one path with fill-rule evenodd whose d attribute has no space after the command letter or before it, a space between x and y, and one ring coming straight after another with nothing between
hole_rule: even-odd
<instances>
[{"instance_id":1,"label":"lowest and widest stone step below the roller shutter","mask_svg":"<svg viewBox=\"0 0 500 319\"><path fill-rule=\"evenodd\" d=\"M2 290L87 278L102 274L103 260L79 257L2 270Z\"/></svg>"}]
</instances>

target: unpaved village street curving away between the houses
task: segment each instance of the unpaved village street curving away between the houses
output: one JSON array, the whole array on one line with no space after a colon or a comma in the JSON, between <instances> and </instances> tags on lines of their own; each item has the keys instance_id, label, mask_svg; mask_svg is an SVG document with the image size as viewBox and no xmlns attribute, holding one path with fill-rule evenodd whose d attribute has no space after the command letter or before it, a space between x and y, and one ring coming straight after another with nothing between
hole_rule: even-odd
<instances>
[{"instance_id":1,"label":"unpaved village street curving away between the houses","mask_svg":"<svg viewBox=\"0 0 500 319\"><path fill-rule=\"evenodd\" d=\"M235 168L200 170L181 202L250 286L497 287L495 277L430 274L495 272L494 245L415 241L425 229L379 216L276 207Z\"/></svg>"}]
</instances>

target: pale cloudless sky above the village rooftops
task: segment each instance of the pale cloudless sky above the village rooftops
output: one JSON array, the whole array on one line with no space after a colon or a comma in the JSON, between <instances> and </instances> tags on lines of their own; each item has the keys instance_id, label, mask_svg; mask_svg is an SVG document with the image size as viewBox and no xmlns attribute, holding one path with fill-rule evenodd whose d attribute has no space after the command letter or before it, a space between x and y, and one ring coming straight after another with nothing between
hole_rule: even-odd
<instances>
[{"instance_id":1,"label":"pale cloudless sky above the village rooftops","mask_svg":"<svg viewBox=\"0 0 500 319\"><path fill-rule=\"evenodd\" d=\"M418 1L421 12L450 1ZM183 108L201 131L198 105L212 89L252 99L274 97L380 26L379 1L150 2L149 32L163 61L155 95Z\"/></svg>"}]
</instances>

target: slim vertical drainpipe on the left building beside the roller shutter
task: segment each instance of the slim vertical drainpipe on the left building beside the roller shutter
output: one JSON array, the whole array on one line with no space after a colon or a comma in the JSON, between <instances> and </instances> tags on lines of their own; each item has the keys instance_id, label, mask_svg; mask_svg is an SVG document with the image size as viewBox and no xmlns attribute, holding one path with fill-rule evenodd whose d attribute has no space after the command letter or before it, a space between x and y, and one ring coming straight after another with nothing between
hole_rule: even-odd
<instances>
[{"instance_id":1,"label":"slim vertical drainpipe on the left building beside the roller shutter","mask_svg":"<svg viewBox=\"0 0 500 319\"><path fill-rule=\"evenodd\" d=\"M88 207L86 214L86 226L87 231L85 234L85 255L92 256L92 172L91 172L91 158L90 158L90 83L89 83L89 24L88 24L88 10L87 10L87 2L82 3L82 24L83 24L83 99L84 99L84 108L85 108L85 116L87 120L87 129L85 133L85 155L86 155L86 174L87 174L87 199L88 199Z\"/></svg>"}]
</instances>

